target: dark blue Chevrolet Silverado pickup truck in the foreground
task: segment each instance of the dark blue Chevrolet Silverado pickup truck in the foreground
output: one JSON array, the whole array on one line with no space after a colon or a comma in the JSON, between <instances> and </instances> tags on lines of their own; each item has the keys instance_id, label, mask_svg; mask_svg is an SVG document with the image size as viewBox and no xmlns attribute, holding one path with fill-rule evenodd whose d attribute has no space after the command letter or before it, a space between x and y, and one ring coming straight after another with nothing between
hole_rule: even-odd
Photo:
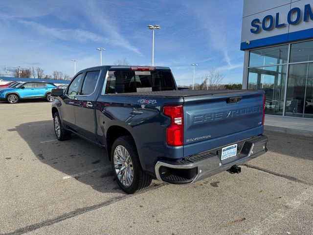
<instances>
[{"instance_id":1,"label":"dark blue Chevrolet Silverado pickup truck in the foreground","mask_svg":"<svg viewBox=\"0 0 313 235\"><path fill-rule=\"evenodd\" d=\"M180 90L165 67L100 66L53 89L56 138L105 147L118 185L190 184L267 152L262 90Z\"/></svg>"}]
</instances>

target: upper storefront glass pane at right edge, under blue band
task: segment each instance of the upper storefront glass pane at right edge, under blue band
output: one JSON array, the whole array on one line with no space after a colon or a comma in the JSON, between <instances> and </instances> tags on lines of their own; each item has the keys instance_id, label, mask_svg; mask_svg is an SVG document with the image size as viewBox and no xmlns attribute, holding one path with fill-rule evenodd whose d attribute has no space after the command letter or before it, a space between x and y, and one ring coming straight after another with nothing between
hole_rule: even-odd
<instances>
[{"instance_id":1,"label":"upper storefront glass pane at right edge, under blue band","mask_svg":"<svg viewBox=\"0 0 313 235\"><path fill-rule=\"evenodd\" d=\"M313 61L313 41L291 44L290 63Z\"/></svg>"}]
</instances>

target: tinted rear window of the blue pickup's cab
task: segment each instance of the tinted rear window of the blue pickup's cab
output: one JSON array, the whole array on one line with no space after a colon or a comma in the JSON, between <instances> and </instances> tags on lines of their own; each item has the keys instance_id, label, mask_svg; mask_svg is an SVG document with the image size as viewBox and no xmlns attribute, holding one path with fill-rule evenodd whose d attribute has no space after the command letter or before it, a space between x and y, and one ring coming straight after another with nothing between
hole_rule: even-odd
<instances>
[{"instance_id":1,"label":"tinted rear window of the blue pickup's cab","mask_svg":"<svg viewBox=\"0 0 313 235\"><path fill-rule=\"evenodd\" d=\"M105 94L175 90L171 71L109 71Z\"/></svg>"}]
</instances>

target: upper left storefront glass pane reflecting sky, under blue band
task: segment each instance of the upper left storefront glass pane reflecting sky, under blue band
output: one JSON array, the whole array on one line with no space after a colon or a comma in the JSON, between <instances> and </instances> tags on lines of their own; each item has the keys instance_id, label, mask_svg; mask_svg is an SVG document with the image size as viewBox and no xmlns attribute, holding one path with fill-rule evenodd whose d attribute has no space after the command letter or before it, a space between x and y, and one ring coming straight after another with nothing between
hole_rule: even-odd
<instances>
[{"instance_id":1,"label":"upper left storefront glass pane reflecting sky, under blue band","mask_svg":"<svg viewBox=\"0 0 313 235\"><path fill-rule=\"evenodd\" d=\"M286 64L288 59L288 47L288 45L284 45L251 50L249 67Z\"/></svg>"}]
</instances>

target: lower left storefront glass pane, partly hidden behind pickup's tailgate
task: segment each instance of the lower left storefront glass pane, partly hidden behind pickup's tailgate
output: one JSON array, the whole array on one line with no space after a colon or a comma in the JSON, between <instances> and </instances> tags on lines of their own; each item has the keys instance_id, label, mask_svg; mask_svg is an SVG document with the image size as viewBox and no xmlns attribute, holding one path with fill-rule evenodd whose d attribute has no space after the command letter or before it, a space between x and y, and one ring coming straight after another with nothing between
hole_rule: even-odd
<instances>
[{"instance_id":1,"label":"lower left storefront glass pane, partly hidden behind pickup's tailgate","mask_svg":"<svg viewBox=\"0 0 313 235\"><path fill-rule=\"evenodd\" d=\"M248 70L248 89L265 91L266 114L283 114L286 72L286 65L249 68Z\"/></svg>"}]
</instances>

